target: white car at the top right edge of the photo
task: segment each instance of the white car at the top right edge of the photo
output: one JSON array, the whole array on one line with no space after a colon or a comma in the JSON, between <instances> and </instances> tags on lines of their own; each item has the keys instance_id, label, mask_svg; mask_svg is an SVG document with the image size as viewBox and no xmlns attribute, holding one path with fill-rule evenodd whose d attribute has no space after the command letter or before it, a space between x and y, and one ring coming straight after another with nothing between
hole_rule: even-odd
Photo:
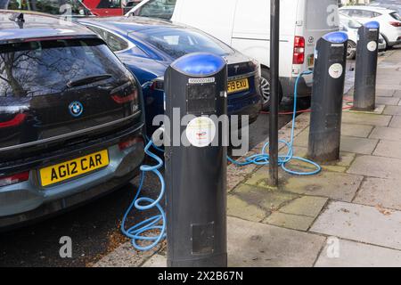
<instances>
[{"instance_id":1,"label":"white car at the top right edge of the photo","mask_svg":"<svg viewBox=\"0 0 401 285\"><path fill-rule=\"evenodd\" d=\"M401 44L401 16L395 10L376 6L345 6L340 13L366 23L376 20L381 24L381 34L388 46Z\"/></svg>"}]
</instances>

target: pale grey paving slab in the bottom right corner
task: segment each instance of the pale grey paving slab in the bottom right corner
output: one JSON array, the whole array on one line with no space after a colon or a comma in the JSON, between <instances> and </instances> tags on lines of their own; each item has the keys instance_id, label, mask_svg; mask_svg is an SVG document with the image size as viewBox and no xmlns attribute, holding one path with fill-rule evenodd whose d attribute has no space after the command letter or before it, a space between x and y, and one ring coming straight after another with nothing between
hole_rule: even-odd
<instances>
[{"instance_id":1,"label":"pale grey paving slab in the bottom right corner","mask_svg":"<svg viewBox=\"0 0 401 285\"><path fill-rule=\"evenodd\" d=\"M315 267L400 267L401 251L381 248L351 240L338 240L338 252L328 243ZM338 256L335 256L337 255Z\"/></svg>"}]
</instances>

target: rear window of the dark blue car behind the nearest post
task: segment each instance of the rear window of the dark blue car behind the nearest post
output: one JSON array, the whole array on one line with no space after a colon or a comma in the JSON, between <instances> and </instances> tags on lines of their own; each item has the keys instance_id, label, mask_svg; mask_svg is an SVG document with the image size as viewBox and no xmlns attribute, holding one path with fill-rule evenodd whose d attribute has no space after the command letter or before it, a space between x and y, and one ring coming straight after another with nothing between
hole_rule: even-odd
<instances>
[{"instance_id":1,"label":"rear window of the dark blue car behind the nearest post","mask_svg":"<svg viewBox=\"0 0 401 285\"><path fill-rule=\"evenodd\" d=\"M148 28L132 35L140 37L173 59L188 53L214 53L220 56L233 53L233 50L213 37L199 30L189 28Z\"/></svg>"}]
</instances>

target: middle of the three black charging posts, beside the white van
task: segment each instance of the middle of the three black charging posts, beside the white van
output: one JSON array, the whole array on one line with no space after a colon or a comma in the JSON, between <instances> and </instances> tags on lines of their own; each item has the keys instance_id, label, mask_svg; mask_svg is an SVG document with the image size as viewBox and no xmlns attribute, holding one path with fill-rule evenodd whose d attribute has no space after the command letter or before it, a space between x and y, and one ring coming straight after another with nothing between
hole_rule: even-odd
<instances>
[{"instance_id":1,"label":"middle of the three black charging posts, beside the white van","mask_svg":"<svg viewBox=\"0 0 401 285\"><path fill-rule=\"evenodd\" d=\"M347 44L347 34L334 32L316 45L308 148L308 157L316 161L340 159Z\"/></svg>"}]
</instances>

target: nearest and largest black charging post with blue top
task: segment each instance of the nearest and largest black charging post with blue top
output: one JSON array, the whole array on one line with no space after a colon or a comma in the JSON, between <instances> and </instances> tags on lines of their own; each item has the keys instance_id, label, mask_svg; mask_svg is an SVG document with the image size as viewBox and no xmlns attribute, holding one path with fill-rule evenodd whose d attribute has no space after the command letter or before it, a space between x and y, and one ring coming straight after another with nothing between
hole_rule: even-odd
<instances>
[{"instance_id":1,"label":"nearest and largest black charging post with blue top","mask_svg":"<svg viewBox=\"0 0 401 285\"><path fill-rule=\"evenodd\" d=\"M226 63L209 53L188 54L171 64L165 80L168 266L225 267L225 130L208 116L227 113Z\"/></svg>"}]
</instances>

